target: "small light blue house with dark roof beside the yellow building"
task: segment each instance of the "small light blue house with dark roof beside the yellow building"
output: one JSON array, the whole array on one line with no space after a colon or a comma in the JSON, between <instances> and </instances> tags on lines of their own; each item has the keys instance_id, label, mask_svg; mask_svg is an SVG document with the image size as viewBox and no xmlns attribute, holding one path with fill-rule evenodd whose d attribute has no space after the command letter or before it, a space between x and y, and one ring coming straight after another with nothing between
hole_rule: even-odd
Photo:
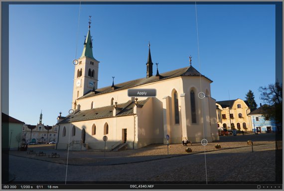
<instances>
[{"instance_id":1,"label":"small light blue house with dark roof beside the yellow building","mask_svg":"<svg viewBox=\"0 0 284 191\"><path fill-rule=\"evenodd\" d=\"M249 113L254 133L271 133L276 131L275 121L268 117L263 116L264 106L265 105L262 105L256 110Z\"/></svg>"}]
</instances>

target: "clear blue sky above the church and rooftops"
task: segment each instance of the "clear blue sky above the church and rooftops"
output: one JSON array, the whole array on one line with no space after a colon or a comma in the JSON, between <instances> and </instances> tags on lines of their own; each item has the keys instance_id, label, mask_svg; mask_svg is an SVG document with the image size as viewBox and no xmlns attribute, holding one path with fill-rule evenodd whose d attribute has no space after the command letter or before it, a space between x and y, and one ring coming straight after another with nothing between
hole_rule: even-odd
<instances>
[{"instance_id":1,"label":"clear blue sky above the church and rooftops","mask_svg":"<svg viewBox=\"0 0 284 191\"><path fill-rule=\"evenodd\" d=\"M148 41L160 73L191 55L217 101L252 90L259 105L259 87L275 82L275 5L197 5L200 63L195 5L81 5L79 28L78 4L9 5L10 116L36 124L42 109L53 125L68 114L89 15L98 88L145 77Z\"/></svg>"}]
</instances>

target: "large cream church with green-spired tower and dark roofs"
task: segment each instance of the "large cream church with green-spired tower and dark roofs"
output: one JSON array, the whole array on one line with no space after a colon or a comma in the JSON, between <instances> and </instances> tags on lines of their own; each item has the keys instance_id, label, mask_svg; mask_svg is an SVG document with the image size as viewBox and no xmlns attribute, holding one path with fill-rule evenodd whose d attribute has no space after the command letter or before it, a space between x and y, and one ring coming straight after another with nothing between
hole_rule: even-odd
<instances>
[{"instance_id":1,"label":"large cream church with green-spired tower and dark roofs","mask_svg":"<svg viewBox=\"0 0 284 191\"><path fill-rule=\"evenodd\" d=\"M94 58L91 22L81 57L74 60L72 110L58 116L58 149L112 150L124 144L137 149L149 144L192 143L219 140L216 100L209 78L190 63L184 68L160 73L148 45L145 77L98 89L99 61ZM145 59L146 60L146 59ZM104 66L105 67L105 66ZM129 96L129 90L151 89L155 96ZM107 141L103 137L107 136ZM77 147L78 149L78 147Z\"/></svg>"}]
</instances>

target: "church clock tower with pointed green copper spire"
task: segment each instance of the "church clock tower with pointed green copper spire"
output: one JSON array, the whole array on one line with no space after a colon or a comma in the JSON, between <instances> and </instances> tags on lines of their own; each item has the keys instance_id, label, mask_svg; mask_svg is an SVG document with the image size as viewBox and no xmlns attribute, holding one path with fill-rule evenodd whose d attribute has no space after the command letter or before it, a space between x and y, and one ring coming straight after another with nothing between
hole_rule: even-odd
<instances>
[{"instance_id":1,"label":"church clock tower with pointed green copper spire","mask_svg":"<svg viewBox=\"0 0 284 191\"><path fill-rule=\"evenodd\" d=\"M75 63L72 109L76 109L76 99L98 88L99 61L93 56L93 39L91 36L91 16L89 30L84 40L84 49L78 63Z\"/></svg>"}]
</instances>

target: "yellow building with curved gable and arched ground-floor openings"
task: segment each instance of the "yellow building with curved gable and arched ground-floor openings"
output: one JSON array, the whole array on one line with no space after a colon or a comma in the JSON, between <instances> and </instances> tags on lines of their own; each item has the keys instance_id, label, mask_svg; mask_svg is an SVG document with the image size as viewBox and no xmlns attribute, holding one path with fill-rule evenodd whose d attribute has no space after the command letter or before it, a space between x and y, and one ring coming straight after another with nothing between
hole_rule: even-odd
<instances>
[{"instance_id":1,"label":"yellow building with curved gable and arched ground-floor openings","mask_svg":"<svg viewBox=\"0 0 284 191\"><path fill-rule=\"evenodd\" d=\"M242 99L216 101L217 127L252 131L248 102Z\"/></svg>"}]
</instances>

